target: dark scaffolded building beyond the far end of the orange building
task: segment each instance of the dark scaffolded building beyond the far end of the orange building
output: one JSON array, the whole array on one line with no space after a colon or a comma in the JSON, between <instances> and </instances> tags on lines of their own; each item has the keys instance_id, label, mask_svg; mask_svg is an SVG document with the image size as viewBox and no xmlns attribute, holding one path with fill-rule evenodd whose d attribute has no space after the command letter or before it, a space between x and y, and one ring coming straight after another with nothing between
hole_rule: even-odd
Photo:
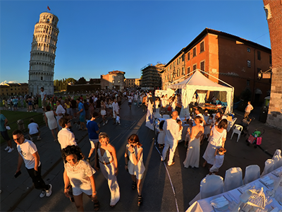
<instances>
[{"instance_id":1,"label":"dark scaffolded building beyond the far end of the orange building","mask_svg":"<svg viewBox=\"0 0 282 212\"><path fill-rule=\"evenodd\" d=\"M161 88L161 71L164 70L164 64L147 64L141 69L142 77L140 86L142 88Z\"/></svg>"}]
</instances>

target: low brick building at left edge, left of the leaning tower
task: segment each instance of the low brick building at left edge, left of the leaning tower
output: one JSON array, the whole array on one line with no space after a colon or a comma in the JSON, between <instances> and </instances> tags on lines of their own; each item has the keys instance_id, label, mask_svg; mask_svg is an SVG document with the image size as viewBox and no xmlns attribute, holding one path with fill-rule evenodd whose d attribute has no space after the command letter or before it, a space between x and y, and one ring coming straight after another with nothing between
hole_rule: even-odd
<instances>
[{"instance_id":1,"label":"low brick building at left edge, left of the leaning tower","mask_svg":"<svg viewBox=\"0 0 282 212\"><path fill-rule=\"evenodd\" d=\"M28 93L27 83L5 83L0 85L0 95L21 95Z\"/></svg>"}]
</instances>

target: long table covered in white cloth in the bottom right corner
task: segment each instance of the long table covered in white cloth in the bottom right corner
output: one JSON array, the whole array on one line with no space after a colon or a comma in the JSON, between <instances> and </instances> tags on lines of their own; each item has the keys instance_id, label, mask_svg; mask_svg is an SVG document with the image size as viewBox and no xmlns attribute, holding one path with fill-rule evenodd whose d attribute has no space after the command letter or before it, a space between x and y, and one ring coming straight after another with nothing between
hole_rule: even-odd
<instances>
[{"instance_id":1,"label":"long table covered in white cloth in the bottom right corner","mask_svg":"<svg viewBox=\"0 0 282 212\"><path fill-rule=\"evenodd\" d=\"M282 210L282 198L279 202L276 200L276 198L280 195L282 195L282 187L281 184L278 186L278 189L276 189L276 195L274 197L269 196L267 191L271 191L271 189L274 189L274 184L277 184L277 182L281 179L279 178L279 174L281 175L282 167L278 167L273 172L270 172L268 175L264 175L263 177L260 177L259 179L256 179L253 182L250 182L248 184L243 185L242 187L239 187L237 189L233 189L228 192L224 192L222 194L218 194L216 196L210 196L206 199L200 199L198 201L195 201L187 210L186 212L210 212L210 211L221 211L219 209L214 208L211 205L211 201L223 196L228 201L228 208L225 211L231 211L236 204L239 204L240 202L240 195L243 194L247 189L261 189L263 187L264 194L266 198L266 211L271 211L273 208L278 208L278 211ZM273 179L274 184L267 184L266 180ZM200 198L200 195L197 195ZM258 210L260 211L260 210Z\"/></svg>"}]
</instances>

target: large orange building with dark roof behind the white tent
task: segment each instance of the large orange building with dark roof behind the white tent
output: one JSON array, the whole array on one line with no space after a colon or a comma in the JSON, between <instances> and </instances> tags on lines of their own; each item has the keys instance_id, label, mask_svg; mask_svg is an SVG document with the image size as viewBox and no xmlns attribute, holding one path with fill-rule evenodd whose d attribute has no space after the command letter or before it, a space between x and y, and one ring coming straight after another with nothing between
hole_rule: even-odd
<instances>
[{"instance_id":1,"label":"large orange building with dark roof behind the white tent","mask_svg":"<svg viewBox=\"0 0 282 212\"><path fill-rule=\"evenodd\" d=\"M249 88L252 101L262 102L270 90L270 79L258 78L269 70L271 49L241 37L205 28L190 44L181 49L165 66L162 89L186 74L201 69L235 88L235 96ZM208 76L216 83L218 80ZM257 93L257 94L256 94Z\"/></svg>"}]
</instances>

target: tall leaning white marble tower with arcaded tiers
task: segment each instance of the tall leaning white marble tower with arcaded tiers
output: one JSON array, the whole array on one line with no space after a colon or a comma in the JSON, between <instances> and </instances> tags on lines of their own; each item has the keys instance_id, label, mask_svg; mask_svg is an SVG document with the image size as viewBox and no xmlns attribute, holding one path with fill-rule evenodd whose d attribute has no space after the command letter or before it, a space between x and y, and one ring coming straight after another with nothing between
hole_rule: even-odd
<instances>
[{"instance_id":1,"label":"tall leaning white marble tower with arcaded tiers","mask_svg":"<svg viewBox=\"0 0 282 212\"><path fill-rule=\"evenodd\" d=\"M35 24L30 52L30 70L28 71L30 95L40 93L41 87L44 87L47 95L54 94L54 61L59 34L58 21L59 18L51 13L41 13L39 22Z\"/></svg>"}]
</instances>

